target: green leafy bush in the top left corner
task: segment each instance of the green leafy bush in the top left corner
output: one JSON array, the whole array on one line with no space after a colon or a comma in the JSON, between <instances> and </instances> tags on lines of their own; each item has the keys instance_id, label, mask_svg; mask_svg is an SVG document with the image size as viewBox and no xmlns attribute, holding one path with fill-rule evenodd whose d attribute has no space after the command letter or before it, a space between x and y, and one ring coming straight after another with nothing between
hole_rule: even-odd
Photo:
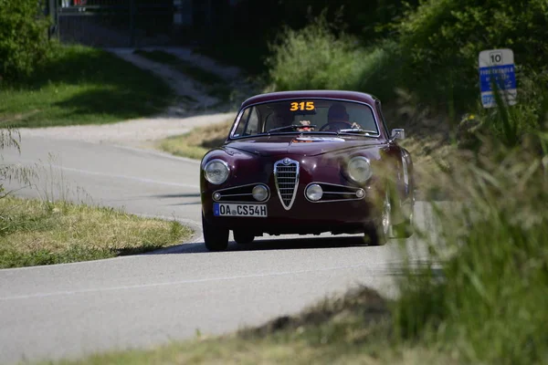
<instances>
[{"instance_id":1,"label":"green leafy bush in the top left corner","mask_svg":"<svg viewBox=\"0 0 548 365\"><path fill-rule=\"evenodd\" d=\"M48 21L36 0L0 0L0 80L24 78L47 56Z\"/></svg>"}]
</instances>

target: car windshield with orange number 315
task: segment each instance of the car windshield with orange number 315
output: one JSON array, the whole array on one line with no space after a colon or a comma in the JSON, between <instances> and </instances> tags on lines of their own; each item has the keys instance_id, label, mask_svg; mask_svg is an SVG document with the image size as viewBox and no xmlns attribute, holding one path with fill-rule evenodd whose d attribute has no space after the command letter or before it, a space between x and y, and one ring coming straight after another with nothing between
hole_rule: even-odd
<instances>
[{"instance_id":1,"label":"car windshield with orange number 315","mask_svg":"<svg viewBox=\"0 0 548 365\"><path fill-rule=\"evenodd\" d=\"M232 138L258 134L317 133L378 136L373 109L332 99L294 99L249 106L239 114Z\"/></svg>"}]
</instances>

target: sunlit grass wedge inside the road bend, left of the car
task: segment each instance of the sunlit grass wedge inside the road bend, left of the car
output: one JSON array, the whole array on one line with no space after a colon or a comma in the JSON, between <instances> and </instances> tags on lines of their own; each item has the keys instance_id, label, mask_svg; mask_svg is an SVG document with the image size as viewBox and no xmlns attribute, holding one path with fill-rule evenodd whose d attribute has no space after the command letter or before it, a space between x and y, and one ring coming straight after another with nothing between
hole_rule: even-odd
<instances>
[{"instance_id":1,"label":"sunlit grass wedge inside the road bend, left of the car","mask_svg":"<svg viewBox=\"0 0 548 365\"><path fill-rule=\"evenodd\" d=\"M136 255L192 235L175 221L66 202L0 199L0 268Z\"/></svg>"}]
</instances>

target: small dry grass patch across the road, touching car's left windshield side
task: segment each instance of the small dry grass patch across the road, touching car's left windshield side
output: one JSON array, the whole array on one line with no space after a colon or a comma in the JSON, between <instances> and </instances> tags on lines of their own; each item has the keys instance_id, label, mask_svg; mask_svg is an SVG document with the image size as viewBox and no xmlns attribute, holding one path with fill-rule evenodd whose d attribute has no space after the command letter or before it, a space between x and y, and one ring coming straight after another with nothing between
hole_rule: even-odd
<instances>
[{"instance_id":1,"label":"small dry grass patch across the road, touching car's left windshield side","mask_svg":"<svg viewBox=\"0 0 548 365\"><path fill-rule=\"evenodd\" d=\"M201 160L205 153L219 147L227 139L233 120L197 127L181 136L168 137L158 141L158 148L177 156Z\"/></svg>"}]
</instances>

